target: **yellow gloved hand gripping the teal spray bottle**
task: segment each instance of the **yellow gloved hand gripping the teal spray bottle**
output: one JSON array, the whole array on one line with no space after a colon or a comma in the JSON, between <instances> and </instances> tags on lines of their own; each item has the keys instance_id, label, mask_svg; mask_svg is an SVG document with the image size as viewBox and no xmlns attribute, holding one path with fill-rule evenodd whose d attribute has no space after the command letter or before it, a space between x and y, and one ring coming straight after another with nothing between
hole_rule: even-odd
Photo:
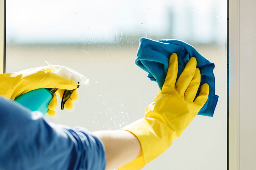
<instances>
[{"instance_id":1,"label":"yellow gloved hand gripping the teal spray bottle","mask_svg":"<svg viewBox=\"0 0 256 170\"><path fill-rule=\"evenodd\" d=\"M76 89L77 83L68 78L51 72L49 67L37 67L26 69L16 73L0 74L0 95L13 100L14 98L40 88L57 87L57 94L62 99L64 89ZM66 101L64 108L70 110L73 107L73 100L78 99L78 89L74 90ZM48 115L54 116L54 109L57 107L56 94L48 105Z\"/></svg>"}]
</instances>

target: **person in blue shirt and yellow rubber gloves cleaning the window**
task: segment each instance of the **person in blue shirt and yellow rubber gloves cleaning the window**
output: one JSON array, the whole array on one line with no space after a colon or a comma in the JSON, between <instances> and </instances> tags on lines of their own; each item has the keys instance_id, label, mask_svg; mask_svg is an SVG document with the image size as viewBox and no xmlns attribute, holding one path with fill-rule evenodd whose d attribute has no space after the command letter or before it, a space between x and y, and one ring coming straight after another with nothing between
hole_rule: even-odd
<instances>
[{"instance_id":1,"label":"person in blue shirt and yellow rubber gloves cleaning the window","mask_svg":"<svg viewBox=\"0 0 256 170\"><path fill-rule=\"evenodd\" d=\"M145 116L120 130L90 132L47 122L41 112L31 112L13 100L38 88L75 89L76 83L38 67L0 74L1 170L136 170L162 154L186 129L208 99L201 74L191 57L177 80L178 60L173 53L162 90L145 110ZM195 99L196 97L196 99ZM9 98L11 100L7 100ZM71 109L75 90L66 102ZM56 96L49 103L54 115Z\"/></svg>"}]
</instances>

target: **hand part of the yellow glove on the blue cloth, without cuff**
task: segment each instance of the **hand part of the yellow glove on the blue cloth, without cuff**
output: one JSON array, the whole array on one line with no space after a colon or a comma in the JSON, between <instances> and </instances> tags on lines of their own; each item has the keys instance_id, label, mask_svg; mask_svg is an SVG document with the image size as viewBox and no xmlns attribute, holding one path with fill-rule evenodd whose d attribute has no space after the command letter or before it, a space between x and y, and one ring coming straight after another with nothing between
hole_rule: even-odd
<instances>
[{"instance_id":1,"label":"hand part of the yellow glove on the blue cloth, without cuff","mask_svg":"<svg viewBox=\"0 0 256 170\"><path fill-rule=\"evenodd\" d=\"M145 117L162 123L167 120L166 125L173 128L177 136L181 135L208 99L208 84L201 86L195 99L201 82L200 70L196 66L196 58L191 57L176 83L178 60L177 55L173 53L162 91L159 90L153 103L146 108Z\"/></svg>"}]
</instances>

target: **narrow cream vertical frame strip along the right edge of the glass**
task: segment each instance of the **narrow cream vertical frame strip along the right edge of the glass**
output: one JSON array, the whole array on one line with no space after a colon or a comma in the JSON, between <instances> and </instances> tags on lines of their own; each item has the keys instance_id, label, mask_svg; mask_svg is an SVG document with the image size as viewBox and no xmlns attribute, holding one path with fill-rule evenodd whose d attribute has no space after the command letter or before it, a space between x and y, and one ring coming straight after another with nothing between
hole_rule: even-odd
<instances>
[{"instance_id":1,"label":"narrow cream vertical frame strip along the right edge of the glass","mask_svg":"<svg viewBox=\"0 0 256 170\"><path fill-rule=\"evenodd\" d=\"M228 169L240 170L240 0L228 0Z\"/></svg>"}]
</instances>

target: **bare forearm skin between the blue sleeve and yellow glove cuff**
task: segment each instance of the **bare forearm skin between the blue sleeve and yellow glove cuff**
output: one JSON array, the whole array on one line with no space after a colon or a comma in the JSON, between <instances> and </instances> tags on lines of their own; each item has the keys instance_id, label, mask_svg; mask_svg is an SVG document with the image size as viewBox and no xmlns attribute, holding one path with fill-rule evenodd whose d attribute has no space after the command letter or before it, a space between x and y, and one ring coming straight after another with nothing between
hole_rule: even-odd
<instances>
[{"instance_id":1,"label":"bare forearm skin between the blue sleeve and yellow glove cuff","mask_svg":"<svg viewBox=\"0 0 256 170\"><path fill-rule=\"evenodd\" d=\"M106 170L125 165L138 158L141 154L139 140L125 130L96 131L106 149Z\"/></svg>"}]
</instances>

